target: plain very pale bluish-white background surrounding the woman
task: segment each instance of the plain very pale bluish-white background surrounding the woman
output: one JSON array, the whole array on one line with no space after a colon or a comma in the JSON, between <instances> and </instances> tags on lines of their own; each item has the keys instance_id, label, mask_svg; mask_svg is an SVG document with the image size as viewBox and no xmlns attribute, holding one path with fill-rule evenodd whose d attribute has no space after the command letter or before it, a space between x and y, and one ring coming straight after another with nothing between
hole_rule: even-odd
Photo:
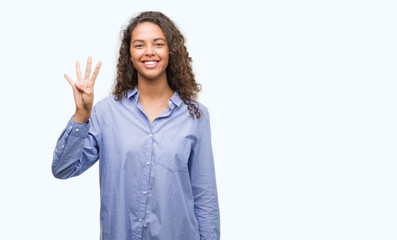
<instances>
[{"instance_id":1,"label":"plain very pale bluish-white background surrounding the woman","mask_svg":"<svg viewBox=\"0 0 397 240\"><path fill-rule=\"evenodd\" d=\"M98 164L51 174L63 74L102 60L108 96L144 10L176 22L203 85L222 239L397 239L395 1L4 2L0 239L98 239Z\"/></svg>"}]
</instances>

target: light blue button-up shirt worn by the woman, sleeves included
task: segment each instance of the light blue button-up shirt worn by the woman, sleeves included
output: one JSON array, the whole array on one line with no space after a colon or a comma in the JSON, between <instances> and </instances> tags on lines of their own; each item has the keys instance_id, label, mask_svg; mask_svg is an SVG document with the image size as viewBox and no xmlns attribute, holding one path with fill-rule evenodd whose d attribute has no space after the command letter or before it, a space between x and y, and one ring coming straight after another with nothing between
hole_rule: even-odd
<instances>
[{"instance_id":1,"label":"light blue button-up shirt worn by the woman, sleeves included","mask_svg":"<svg viewBox=\"0 0 397 240\"><path fill-rule=\"evenodd\" d=\"M174 93L151 124L138 100L98 102L87 124L70 119L52 172L78 176L99 159L103 240L218 240L220 218L208 110L193 119Z\"/></svg>"}]
</instances>

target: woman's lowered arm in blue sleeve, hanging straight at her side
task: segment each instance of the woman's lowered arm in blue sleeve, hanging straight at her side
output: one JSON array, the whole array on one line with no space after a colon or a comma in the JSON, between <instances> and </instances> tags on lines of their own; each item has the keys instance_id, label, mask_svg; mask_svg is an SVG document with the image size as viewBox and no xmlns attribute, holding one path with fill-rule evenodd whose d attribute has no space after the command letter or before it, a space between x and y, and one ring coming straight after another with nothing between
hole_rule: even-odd
<instances>
[{"instance_id":1,"label":"woman's lowered arm in blue sleeve, hanging straight at her side","mask_svg":"<svg viewBox=\"0 0 397 240\"><path fill-rule=\"evenodd\" d=\"M194 211L199 222L201 240L220 239L220 216L211 146L209 119L205 120L201 137L189 161L194 196Z\"/></svg>"}]
</instances>

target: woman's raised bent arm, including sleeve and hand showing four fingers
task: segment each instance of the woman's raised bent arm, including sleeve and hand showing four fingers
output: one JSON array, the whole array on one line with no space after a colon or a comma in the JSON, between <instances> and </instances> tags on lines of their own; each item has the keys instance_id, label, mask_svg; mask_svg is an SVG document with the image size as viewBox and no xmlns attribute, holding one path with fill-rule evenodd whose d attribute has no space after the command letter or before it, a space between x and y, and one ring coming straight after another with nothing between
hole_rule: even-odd
<instances>
[{"instance_id":1,"label":"woman's raised bent arm, including sleeve and hand showing four fingers","mask_svg":"<svg viewBox=\"0 0 397 240\"><path fill-rule=\"evenodd\" d=\"M101 62L98 62L91 78L92 58L87 60L84 78L80 63L76 62L77 82L65 74L73 89L76 112L58 139L52 162L52 173L56 178L77 176L98 160L99 124L96 114L91 116L94 101L94 84ZM95 112L95 111L94 111Z\"/></svg>"}]
</instances>

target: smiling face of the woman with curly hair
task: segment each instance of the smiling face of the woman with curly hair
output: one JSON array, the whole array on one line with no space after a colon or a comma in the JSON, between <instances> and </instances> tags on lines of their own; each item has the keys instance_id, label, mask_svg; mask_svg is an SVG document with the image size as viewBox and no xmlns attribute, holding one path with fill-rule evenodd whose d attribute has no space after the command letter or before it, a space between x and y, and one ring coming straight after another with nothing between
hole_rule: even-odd
<instances>
[{"instance_id":1,"label":"smiling face of the woman with curly hair","mask_svg":"<svg viewBox=\"0 0 397 240\"><path fill-rule=\"evenodd\" d=\"M138 24L132 30L131 61L138 72L138 80L166 78L168 44L161 28L151 22Z\"/></svg>"}]
</instances>

